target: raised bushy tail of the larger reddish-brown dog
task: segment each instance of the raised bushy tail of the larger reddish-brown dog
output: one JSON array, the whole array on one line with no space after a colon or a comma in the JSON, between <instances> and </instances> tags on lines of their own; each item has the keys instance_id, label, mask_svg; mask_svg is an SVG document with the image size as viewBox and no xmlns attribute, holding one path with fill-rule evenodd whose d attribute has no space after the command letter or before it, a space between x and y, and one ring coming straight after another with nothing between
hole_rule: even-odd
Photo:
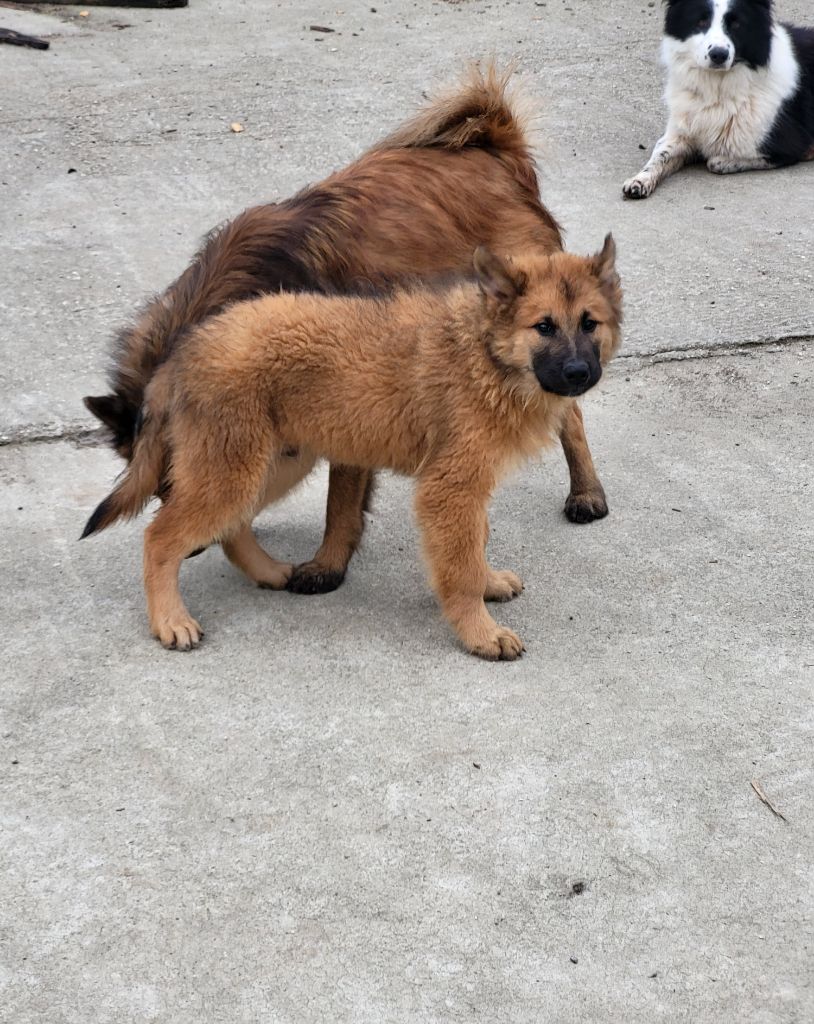
<instances>
[{"instance_id":1,"label":"raised bushy tail of the larger reddish-brown dog","mask_svg":"<svg viewBox=\"0 0 814 1024\"><path fill-rule=\"evenodd\" d=\"M510 94L512 74L511 69L499 72L492 63L485 69L473 66L457 87L431 100L374 148L487 150L512 165L521 184L537 197L528 119Z\"/></svg>"}]
</instances>

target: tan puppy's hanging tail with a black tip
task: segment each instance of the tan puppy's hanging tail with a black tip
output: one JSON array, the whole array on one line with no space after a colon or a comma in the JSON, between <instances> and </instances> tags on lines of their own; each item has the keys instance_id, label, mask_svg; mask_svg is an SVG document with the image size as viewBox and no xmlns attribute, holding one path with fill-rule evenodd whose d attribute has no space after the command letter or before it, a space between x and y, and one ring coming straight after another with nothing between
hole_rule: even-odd
<instances>
[{"instance_id":1,"label":"tan puppy's hanging tail with a black tip","mask_svg":"<svg viewBox=\"0 0 814 1024\"><path fill-rule=\"evenodd\" d=\"M151 411L138 425L133 456L119 483L100 502L82 530L81 541L120 519L132 519L159 490L166 467L165 416Z\"/></svg>"}]
</instances>

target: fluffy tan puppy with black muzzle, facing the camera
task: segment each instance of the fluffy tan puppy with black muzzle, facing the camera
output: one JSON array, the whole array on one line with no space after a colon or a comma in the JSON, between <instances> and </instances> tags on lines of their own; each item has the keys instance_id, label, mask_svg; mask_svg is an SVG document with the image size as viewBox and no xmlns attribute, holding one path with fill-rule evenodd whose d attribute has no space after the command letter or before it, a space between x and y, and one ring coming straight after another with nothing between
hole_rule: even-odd
<instances>
[{"instance_id":1,"label":"fluffy tan puppy with black muzzle, facing the camera","mask_svg":"<svg viewBox=\"0 0 814 1024\"><path fill-rule=\"evenodd\" d=\"M178 590L183 559L228 541L281 490L287 450L418 478L433 586L464 646L523 650L485 600L522 589L488 567L486 508L501 477L551 442L619 342L610 236L594 257L507 262L480 248L477 284L382 298L268 296L195 331L155 374L130 467L85 534L140 511L153 633L188 650L201 627ZM285 489L285 488L284 488Z\"/></svg>"}]
</instances>

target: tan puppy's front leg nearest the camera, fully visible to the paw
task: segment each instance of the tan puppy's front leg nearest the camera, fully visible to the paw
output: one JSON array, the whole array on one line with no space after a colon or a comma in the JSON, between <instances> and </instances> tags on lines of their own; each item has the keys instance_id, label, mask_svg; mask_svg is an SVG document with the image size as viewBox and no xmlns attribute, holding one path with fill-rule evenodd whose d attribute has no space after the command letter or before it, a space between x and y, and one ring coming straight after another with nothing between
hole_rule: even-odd
<instances>
[{"instance_id":1,"label":"tan puppy's front leg nearest the camera, fully visible to the paw","mask_svg":"<svg viewBox=\"0 0 814 1024\"><path fill-rule=\"evenodd\" d=\"M416 510L432 584L467 650L490 662L513 662L524 650L522 641L499 626L483 603L494 582L483 550L489 488L464 487L454 469L419 483Z\"/></svg>"}]
</instances>

